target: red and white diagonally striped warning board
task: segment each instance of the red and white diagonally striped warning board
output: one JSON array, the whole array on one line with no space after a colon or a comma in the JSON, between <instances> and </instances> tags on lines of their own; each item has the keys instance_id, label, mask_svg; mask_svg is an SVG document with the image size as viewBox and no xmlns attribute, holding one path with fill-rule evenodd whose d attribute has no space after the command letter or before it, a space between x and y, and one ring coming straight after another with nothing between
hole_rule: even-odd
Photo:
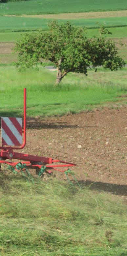
<instances>
[{"instance_id":1,"label":"red and white diagonally striped warning board","mask_svg":"<svg viewBox=\"0 0 127 256\"><path fill-rule=\"evenodd\" d=\"M22 144L22 118L1 117L2 146Z\"/></svg>"}]
</instances>

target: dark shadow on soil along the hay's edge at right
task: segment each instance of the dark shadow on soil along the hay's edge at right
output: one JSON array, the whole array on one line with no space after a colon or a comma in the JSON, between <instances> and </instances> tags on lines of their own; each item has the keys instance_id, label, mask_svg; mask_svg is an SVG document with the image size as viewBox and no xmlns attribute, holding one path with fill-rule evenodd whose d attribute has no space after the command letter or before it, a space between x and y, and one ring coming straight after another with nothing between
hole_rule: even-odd
<instances>
[{"instance_id":1,"label":"dark shadow on soil along the hay's edge at right","mask_svg":"<svg viewBox=\"0 0 127 256\"><path fill-rule=\"evenodd\" d=\"M78 183L82 188L89 187L91 190L105 191L114 195L127 196L127 185L111 184L98 181L94 182L91 180L80 180Z\"/></svg>"}]
</instances>

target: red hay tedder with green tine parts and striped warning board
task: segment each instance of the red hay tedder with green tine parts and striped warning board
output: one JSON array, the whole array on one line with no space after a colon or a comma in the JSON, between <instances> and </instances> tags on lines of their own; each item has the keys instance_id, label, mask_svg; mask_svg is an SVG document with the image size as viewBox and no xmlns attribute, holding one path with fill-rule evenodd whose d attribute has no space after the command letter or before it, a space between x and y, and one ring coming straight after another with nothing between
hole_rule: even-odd
<instances>
[{"instance_id":1,"label":"red hay tedder with green tine parts and striped warning board","mask_svg":"<svg viewBox=\"0 0 127 256\"><path fill-rule=\"evenodd\" d=\"M1 117L2 146L0 146L0 169L1 164L7 164L11 172L22 174L28 180L32 180L32 175L28 171L29 169L35 169L38 176L43 176L44 173L52 175L53 170L65 172L67 178L69 173L73 175L69 169L75 166L73 163L49 157L14 152L14 149L19 150L25 147L26 130L26 88L24 88L23 125L22 118ZM17 161L13 162L12 159Z\"/></svg>"}]
</instances>

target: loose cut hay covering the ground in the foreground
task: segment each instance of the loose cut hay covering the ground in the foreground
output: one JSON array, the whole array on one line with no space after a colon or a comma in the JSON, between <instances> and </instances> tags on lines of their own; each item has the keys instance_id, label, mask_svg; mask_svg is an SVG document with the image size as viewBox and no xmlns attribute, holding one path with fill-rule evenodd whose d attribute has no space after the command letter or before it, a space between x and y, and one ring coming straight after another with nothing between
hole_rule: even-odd
<instances>
[{"instance_id":1,"label":"loose cut hay covering the ground in the foreground","mask_svg":"<svg viewBox=\"0 0 127 256\"><path fill-rule=\"evenodd\" d=\"M49 179L0 176L0 255L124 256L126 205Z\"/></svg>"}]
</instances>

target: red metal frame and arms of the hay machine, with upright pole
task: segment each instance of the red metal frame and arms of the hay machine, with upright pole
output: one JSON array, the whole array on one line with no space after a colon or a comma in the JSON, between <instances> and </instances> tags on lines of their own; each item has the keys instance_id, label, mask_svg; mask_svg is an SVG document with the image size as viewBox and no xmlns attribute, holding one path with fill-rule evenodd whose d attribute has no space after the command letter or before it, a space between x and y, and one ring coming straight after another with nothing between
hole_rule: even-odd
<instances>
[{"instance_id":1,"label":"red metal frame and arms of the hay machine, with upright pole","mask_svg":"<svg viewBox=\"0 0 127 256\"><path fill-rule=\"evenodd\" d=\"M64 172L66 170L61 169L55 169L55 167L72 167L76 164L48 158L48 157L42 157L42 156L36 156L36 155L29 155L29 154L23 154L18 152L13 152L13 149L22 149L26 145L26 106L27 106L27 94L26 94L26 88L24 88L24 120L23 120L23 144L19 147L14 146L3 146L0 147L2 149L0 151L0 164L9 164L12 167L14 167L19 162L11 162L7 161L6 159L12 160L12 159L19 159L23 161L22 163L27 165L27 168L34 168L34 169L41 169L43 165L46 165L47 169L54 169L60 172ZM25 161L25 162L24 162ZM54 163L61 163L61 164L54 164ZM49 171L48 173L51 173Z\"/></svg>"}]
</instances>

